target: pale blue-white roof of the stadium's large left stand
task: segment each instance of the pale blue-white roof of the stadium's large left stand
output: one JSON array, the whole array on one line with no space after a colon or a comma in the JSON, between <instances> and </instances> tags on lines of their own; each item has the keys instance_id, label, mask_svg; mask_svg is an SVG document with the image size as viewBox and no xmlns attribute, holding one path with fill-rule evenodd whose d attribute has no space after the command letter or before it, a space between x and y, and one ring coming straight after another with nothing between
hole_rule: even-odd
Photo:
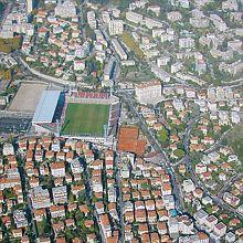
<instances>
[{"instance_id":1,"label":"pale blue-white roof of the stadium's large left stand","mask_svg":"<svg viewBox=\"0 0 243 243\"><path fill-rule=\"evenodd\" d=\"M44 91L42 93L32 123L52 123L60 93L60 91Z\"/></svg>"}]
</instances>

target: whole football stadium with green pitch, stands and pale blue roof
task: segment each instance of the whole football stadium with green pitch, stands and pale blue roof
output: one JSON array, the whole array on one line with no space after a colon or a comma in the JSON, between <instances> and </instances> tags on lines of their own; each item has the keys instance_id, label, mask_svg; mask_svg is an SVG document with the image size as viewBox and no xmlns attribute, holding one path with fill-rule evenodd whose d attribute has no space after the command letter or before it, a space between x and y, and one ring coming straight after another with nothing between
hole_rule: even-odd
<instances>
[{"instance_id":1,"label":"whole football stadium with green pitch, stands and pale blue roof","mask_svg":"<svg viewBox=\"0 0 243 243\"><path fill-rule=\"evenodd\" d=\"M117 131L119 99L107 93L44 91L32 125L38 134L105 142Z\"/></svg>"}]
</instances>

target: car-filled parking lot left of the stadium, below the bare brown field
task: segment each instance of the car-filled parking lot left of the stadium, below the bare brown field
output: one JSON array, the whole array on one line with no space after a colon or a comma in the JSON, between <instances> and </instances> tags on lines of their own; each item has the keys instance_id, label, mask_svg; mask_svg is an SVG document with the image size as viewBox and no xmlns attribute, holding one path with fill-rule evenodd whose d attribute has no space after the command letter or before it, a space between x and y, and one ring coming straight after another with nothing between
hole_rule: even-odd
<instances>
[{"instance_id":1,"label":"car-filled parking lot left of the stadium, below the bare brown field","mask_svg":"<svg viewBox=\"0 0 243 243\"><path fill-rule=\"evenodd\" d=\"M31 118L0 117L0 134L22 134L31 124Z\"/></svg>"}]
</instances>

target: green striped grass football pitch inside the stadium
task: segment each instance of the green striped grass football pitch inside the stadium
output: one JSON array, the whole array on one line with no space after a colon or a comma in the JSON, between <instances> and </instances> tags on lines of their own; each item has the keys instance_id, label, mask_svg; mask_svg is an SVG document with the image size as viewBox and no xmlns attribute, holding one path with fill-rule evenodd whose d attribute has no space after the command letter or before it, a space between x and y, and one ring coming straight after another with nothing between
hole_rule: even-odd
<instances>
[{"instance_id":1,"label":"green striped grass football pitch inside the stadium","mask_svg":"<svg viewBox=\"0 0 243 243\"><path fill-rule=\"evenodd\" d=\"M67 105L62 134L103 136L108 118L109 105L72 103Z\"/></svg>"}]
</instances>

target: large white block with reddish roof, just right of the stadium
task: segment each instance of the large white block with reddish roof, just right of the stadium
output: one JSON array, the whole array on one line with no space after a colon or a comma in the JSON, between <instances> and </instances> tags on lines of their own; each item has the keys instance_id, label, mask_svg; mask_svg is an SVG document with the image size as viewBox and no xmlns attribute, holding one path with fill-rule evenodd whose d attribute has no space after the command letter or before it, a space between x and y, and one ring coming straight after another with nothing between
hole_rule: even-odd
<instances>
[{"instance_id":1,"label":"large white block with reddish roof, just right of the stadium","mask_svg":"<svg viewBox=\"0 0 243 243\"><path fill-rule=\"evenodd\" d=\"M139 103L147 104L161 97L162 88L159 81L146 82L135 85L135 94Z\"/></svg>"}]
</instances>

